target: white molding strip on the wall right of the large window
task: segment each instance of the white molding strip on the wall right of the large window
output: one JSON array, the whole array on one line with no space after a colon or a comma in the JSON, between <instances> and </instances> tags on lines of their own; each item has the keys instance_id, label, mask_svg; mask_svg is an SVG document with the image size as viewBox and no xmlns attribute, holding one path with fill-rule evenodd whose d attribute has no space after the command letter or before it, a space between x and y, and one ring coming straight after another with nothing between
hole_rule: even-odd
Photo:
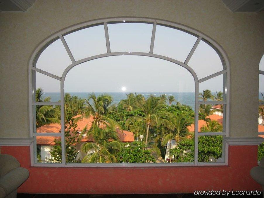
<instances>
[{"instance_id":1,"label":"white molding strip on the wall right of the large window","mask_svg":"<svg viewBox=\"0 0 264 198\"><path fill-rule=\"evenodd\" d=\"M228 145L259 145L264 141L264 138L237 138L237 137L224 137L224 140Z\"/></svg>"}]
</instances>

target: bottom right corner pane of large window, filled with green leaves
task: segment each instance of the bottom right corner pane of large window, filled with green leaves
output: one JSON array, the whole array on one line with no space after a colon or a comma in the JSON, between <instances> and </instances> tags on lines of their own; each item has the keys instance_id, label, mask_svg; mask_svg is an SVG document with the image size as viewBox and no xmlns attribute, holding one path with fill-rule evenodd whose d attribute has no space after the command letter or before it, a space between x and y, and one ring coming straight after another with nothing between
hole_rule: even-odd
<instances>
[{"instance_id":1,"label":"bottom right corner pane of large window, filled with green leaves","mask_svg":"<svg viewBox=\"0 0 264 198\"><path fill-rule=\"evenodd\" d=\"M222 136L198 137L198 162L222 162Z\"/></svg>"}]
</instances>

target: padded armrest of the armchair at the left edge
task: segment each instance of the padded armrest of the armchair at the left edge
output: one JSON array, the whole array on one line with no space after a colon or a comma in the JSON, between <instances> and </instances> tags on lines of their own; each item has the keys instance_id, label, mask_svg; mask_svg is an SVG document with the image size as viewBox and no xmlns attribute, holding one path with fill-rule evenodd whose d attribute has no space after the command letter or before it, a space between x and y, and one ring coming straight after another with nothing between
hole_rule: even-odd
<instances>
[{"instance_id":1,"label":"padded armrest of the armchair at the left edge","mask_svg":"<svg viewBox=\"0 0 264 198\"><path fill-rule=\"evenodd\" d=\"M0 178L0 188L4 189L5 196L17 189L27 180L29 172L25 168L16 168Z\"/></svg>"}]
</instances>

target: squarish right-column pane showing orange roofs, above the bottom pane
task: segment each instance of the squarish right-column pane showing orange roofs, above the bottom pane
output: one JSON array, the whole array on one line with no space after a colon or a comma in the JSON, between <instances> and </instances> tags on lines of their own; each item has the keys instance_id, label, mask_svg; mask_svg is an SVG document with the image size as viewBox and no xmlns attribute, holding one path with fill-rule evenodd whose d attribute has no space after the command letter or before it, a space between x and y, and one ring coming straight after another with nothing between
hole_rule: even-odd
<instances>
[{"instance_id":1,"label":"squarish right-column pane showing orange roofs, above the bottom pane","mask_svg":"<svg viewBox=\"0 0 264 198\"><path fill-rule=\"evenodd\" d=\"M198 131L223 132L223 107L224 105L200 105Z\"/></svg>"}]
</instances>

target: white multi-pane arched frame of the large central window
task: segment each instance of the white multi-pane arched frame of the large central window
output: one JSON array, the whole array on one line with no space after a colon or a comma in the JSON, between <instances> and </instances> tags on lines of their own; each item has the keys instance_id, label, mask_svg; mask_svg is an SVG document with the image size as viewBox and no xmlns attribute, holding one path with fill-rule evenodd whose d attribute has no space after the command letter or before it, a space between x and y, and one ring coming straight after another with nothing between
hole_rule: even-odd
<instances>
[{"instance_id":1,"label":"white multi-pane arched frame of the large central window","mask_svg":"<svg viewBox=\"0 0 264 198\"><path fill-rule=\"evenodd\" d=\"M107 24L109 23L123 23L123 22L137 22L137 23L149 23L153 24L152 29L152 36L151 36L151 44L150 44L150 50L149 53L143 53L143 52L114 52L111 53L110 48L110 42L108 37L108 28ZM107 53L105 54L99 54L91 57L87 57L78 61L75 61L69 47L67 46L67 43L65 42L65 39L63 38L64 35L69 34L71 32L77 31L79 29L83 29L86 27L91 27L95 25L104 25L105 30L105 38L106 38L106 49ZM166 56L153 54L153 47L154 47L154 41L155 41L155 32L156 32L156 25L163 25L171 28L175 28L178 30L181 30L183 32L187 32L189 34L192 34L197 37L197 40L192 47L189 55L187 56L186 60L184 62L180 62L178 60L168 58ZM36 68L37 60L42 53L42 51L45 50L49 44L51 44L56 39L61 39L69 57L72 61L72 64L70 64L63 72L62 77L58 77L54 74L51 74L49 72L40 70ZM191 56L193 55L196 47L198 46L199 42L203 40L207 44L209 44L219 55L223 70L220 72L216 72L214 74L211 74L207 77L204 77L202 79L198 79L196 73L194 70L189 67L187 64L189 60L191 59ZM87 62L89 60L94 60L97 58L103 58L108 56L115 56L115 55L141 55L141 56L149 56L154 58L160 58L163 60L167 60L173 63L176 63L177 65L180 65L184 68L186 68L194 77L195 82L195 132L194 132L194 163L134 163L134 164L122 164L122 163L105 163L105 164L79 164L79 163L66 163L65 162L65 129L64 129L64 80L71 68L74 66L81 64L83 62ZM229 136L229 91L230 91L230 69L229 69L229 61L227 58L227 55L223 48L213 39L208 37L207 35L199 32L198 30L192 29L190 27L187 27L182 24L178 24L175 22L165 21L165 20L159 20L159 19L153 19L153 18L135 18L135 17L118 17L118 18L105 18L105 19L98 19L98 20L92 20L88 22L83 22L77 25L73 25L71 27L65 28L59 32L56 32L55 34L51 35L50 37L46 38L44 41L41 42L37 46L37 48L34 50L30 61L29 61L29 113L30 113L30 137L34 139L34 142L30 146L31 150L31 165L32 166L56 166L56 167L162 167L162 166L212 166L212 165L227 165L228 164L228 146L223 140L223 147L222 147L222 162L198 162L198 136L215 136L215 135L221 135L228 137ZM42 74L45 74L49 77L52 77L54 79L57 79L61 82L61 102L35 102L33 99L35 98L35 72L39 72ZM264 71L262 71L264 74ZM206 80L209 80L213 77L219 76L223 74L223 101L199 101L199 83L204 82ZM223 104L223 132L205 132L205 133L199 133L198 134L198 118L199 118L199 105L201 104ZM36 105L60 105L61 106L61 133L34 133L36 131L36 117L35 117L35 108ZM54 164L54 163L37 163L36 157L34 155L37 153L37 149L34 146L36 143L36 137L37 136L60 136L61 142L62 142L62 163Z\"/></svg>"}]
</instances>

